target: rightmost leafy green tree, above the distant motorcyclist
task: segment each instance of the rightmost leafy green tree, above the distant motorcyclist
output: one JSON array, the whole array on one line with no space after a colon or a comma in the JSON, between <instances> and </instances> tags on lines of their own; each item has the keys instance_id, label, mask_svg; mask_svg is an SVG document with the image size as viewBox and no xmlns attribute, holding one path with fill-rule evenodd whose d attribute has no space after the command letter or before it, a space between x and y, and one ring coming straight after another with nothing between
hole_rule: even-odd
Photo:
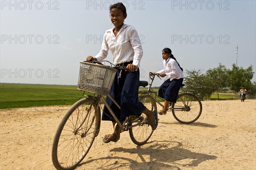
<instances>
[{"instance_id":1,"label":"rightmost leafy green tree, above the distant motorcyclist","mask_svg":"<svg viewBox=\"0 0 256 170\"><path fill-rule=\"evenodd\" d=\"M238 92L241 89L241 86L244 86L247 91L250 90L252 85L251 79L253 79L253 66L250 65L248 68L244 69L238 67L235 64L232 65L232 70L228 70L228 75L230 77L229 87L234 93Z\"/></svg>"}]
</instances>

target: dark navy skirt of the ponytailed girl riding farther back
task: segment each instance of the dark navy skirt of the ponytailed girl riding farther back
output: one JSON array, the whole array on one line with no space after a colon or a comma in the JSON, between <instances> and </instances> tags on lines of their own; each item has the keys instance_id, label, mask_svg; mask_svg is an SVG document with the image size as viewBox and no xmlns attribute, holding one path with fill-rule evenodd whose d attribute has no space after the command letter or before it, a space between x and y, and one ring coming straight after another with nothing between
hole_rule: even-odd
<instances>
[{"instance_id":1,"label":"dark navy skirt of the ponytailed girl riding farther back","mask_svg":"<svg viewBox=\"0 0 256 170\"><path fill-rule=\"evenodd\" d=\"M158 89L158 96L169 102L176 102L182 82L183 78L164 81Z\"/></svg>"}]
</instances>

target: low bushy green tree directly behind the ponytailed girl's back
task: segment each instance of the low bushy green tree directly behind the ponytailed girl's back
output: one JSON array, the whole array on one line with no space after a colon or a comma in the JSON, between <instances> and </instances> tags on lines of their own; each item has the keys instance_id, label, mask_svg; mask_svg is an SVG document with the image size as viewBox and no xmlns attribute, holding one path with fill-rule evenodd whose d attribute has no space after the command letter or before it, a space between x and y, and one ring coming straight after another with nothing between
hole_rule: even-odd
<instances>
[{"instance_id":1,"label":"low bushy green tree directly behind the ponytailed girl's back","mask_svg":"<svg viewBox=\"0 0 256 170\"><path fill-rule=\"evenodd\" d=\"M185 77L186 89L197 91L201 100L208 99L214 92L210 78L206 74L201 74L201 71L186 71Z\"/></svg>"}]
</instances>

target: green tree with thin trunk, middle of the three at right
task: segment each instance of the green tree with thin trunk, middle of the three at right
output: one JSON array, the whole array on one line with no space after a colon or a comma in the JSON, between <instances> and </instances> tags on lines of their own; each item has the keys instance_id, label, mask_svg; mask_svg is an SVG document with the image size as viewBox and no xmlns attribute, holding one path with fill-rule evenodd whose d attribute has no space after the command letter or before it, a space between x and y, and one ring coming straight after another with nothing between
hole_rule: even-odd
<instances>
[{"instance_id":1,"label":"green tree with thin trunk, middle of the three at right","mask_svg":"<svg viewBox=\"0 0 256 170\"><path fill-rule=\"evenodd\" d=\"M219 63L217 68L207 70L206 75L211 79L212 86L217 92L219 100L219 91L227 87L229 79L226 66Z\"/></svg>"}]
</instances>

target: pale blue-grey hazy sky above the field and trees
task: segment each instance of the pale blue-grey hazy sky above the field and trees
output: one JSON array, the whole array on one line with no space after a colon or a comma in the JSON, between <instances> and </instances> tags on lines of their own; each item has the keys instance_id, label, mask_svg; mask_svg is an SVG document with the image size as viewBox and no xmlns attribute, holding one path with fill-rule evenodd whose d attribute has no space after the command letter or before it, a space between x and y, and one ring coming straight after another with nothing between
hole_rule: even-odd
<instances>
[{"instance_id":1,"label":"pale blue-grey hazy sky above the field and trees","mask_svg":"<svg viewBox=\"0 0 256 170\"><path fill-rule=\"evenodd\" d=\"M76 85L79 62L98 54L103 34L113 28L109 6L115 2L1 0L0 82ZM255 0L121 2L127 7L125 23L137 29L143 45L141 80L163 69L165 47L184 74L205 73L220 62L232 68L236 57L238 66L253 65L256 72ZM110 51L106 60L113 62Z\"/></svg>"}]
</instances>

